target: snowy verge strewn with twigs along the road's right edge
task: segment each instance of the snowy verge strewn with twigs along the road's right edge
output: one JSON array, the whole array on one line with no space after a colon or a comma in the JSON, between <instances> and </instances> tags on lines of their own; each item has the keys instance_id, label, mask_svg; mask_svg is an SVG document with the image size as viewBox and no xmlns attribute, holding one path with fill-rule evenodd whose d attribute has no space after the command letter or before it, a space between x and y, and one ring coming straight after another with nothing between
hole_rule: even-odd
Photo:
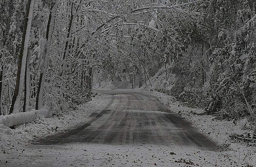
<instances>
[{"instance_id":1,"label":"snowy verge strewn with twigs along the road's right edge","mask_svg":"<svg viewBox=\"0 0 256 167\"><path fill-rule=\"evenodd\" d=\"M256 148L248 146L243 142L231 140L229 135L250 133L247 126L247 119L238 120L236 124L232 121L216 120L210 115L198 115L203 113L202 109L190 108L182 105L174 97L157 91L144 88L135 89L136 92L151 94L165 104L170 111L189 121L200 133L219 144L221 155L230 157L233 162L240 161L240 164L256 164Z\"/></svg>"}]
</instances>

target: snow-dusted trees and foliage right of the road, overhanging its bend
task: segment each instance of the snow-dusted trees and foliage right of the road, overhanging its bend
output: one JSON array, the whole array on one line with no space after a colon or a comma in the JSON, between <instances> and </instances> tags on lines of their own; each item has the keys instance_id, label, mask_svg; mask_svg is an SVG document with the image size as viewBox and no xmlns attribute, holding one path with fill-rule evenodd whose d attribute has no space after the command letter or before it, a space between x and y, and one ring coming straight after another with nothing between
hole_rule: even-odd
<instances>
[{"instance_id":1,"label":"snow-dusted trees and foliage right of the road, overhanging its bend","mask_svg":"<svg viewBox=\"0 0 256 167\"><path fill-rule=\"evenodd\" d=\"M135 74L207 114L254 119L256 2L208 0L180 10L143 15L148 28L137 17L141 27L113 28L115 48L108 54L115 62L104 69L115 78Z\"/></svg>"}]
</instances>

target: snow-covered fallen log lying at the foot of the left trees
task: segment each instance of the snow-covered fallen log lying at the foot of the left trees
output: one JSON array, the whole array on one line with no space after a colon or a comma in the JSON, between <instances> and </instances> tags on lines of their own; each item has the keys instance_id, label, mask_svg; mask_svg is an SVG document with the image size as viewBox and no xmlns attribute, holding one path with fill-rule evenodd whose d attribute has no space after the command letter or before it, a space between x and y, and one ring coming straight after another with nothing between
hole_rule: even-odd
<instances>
[{"instance_id":1,"label":"snow-covered fallen log lying at the foot of the left trees","mask_svg":"<svg viewBox=\"0 0 256 167\"><path fill-rule=\"evenodd\" d=\"M5 126L11 127L15 125L20 125L28 122L35 121L38 115L43 115L45 118L49 118L52 116L52 112L47 109L35 110L23 113L16 113L11 115L1 115L0 116L0 124L4 124Z\"/></svg>"}]
</instances>

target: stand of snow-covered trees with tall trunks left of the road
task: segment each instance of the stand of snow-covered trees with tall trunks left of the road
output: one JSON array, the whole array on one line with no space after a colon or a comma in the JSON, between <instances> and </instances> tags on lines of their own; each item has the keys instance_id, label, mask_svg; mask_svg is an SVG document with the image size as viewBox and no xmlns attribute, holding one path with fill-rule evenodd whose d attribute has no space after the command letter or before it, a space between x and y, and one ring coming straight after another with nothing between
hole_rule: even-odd
<instances>
[{"instance_id":1,"label":"stand of snow-covered trees with tall trunks left of the road","mask_svg":"<svg viewBox=\"0 0 256 167\"><path fill-rule=\"evenodd\" d=\"M95 54L84 49L89 18L77 12L88 3L79 2L0 2L0 115L41 107L62 115L90 100Z\"/></svg>"}]
</instances>

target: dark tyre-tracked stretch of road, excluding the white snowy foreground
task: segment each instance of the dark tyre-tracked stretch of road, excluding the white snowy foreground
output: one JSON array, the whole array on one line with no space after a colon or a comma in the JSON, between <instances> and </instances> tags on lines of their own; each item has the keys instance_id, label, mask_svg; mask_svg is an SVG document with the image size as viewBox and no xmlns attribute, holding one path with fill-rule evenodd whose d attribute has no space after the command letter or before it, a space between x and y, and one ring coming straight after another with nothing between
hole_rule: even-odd
<instances>
[{"instance_id":1,"label":"dark tyre-tracked stretch of road, excluding the white snowy foreground","mask_svg":"<svg viewBox=\"0 0 256 167\"><path fill-rule=\"evenodd\" d=\"M108 107L93 113L92 120L41 144L73 142L100 144L194 145L204 150L215 143L191 125L173 115L154 96L123 91L100 90L111 98Z\"/></svg>"}]
</instances>

